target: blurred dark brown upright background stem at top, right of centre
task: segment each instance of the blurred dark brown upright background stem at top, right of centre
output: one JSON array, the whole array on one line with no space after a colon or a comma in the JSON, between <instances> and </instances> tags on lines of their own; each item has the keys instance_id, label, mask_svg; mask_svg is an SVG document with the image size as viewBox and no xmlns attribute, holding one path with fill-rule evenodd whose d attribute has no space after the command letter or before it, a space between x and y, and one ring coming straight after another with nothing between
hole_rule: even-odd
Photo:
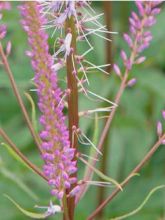
<instances>
[{"instance_id":1,"label":"blurred dark brown upright background stem at top, right of centre","mask_svg":"<svg viewBox=\"0 0 165 220\"><path fill-rule=\"evenodd\" d=\"M104 1L103 2L103 8L104 8L104 19L105 24L107 27L107 30L110 31L112 29L112 2L111 1ZM107 38L110 38L110 34L106 34ZM105 51L106 51L106 63L111 64L111 66L107 66L106 71L110 72L112 68L112 43L110 41L105 42Z\"/></svg>"}]
</instances>

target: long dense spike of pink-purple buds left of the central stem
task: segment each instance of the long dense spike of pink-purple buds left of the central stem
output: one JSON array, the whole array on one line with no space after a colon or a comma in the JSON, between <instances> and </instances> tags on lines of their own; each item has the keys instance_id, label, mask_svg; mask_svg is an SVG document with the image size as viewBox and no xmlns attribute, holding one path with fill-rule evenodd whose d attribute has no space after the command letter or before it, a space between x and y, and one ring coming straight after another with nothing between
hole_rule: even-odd
<instances>
[{"instance_id":1,"label":"long dense spike of pink-purple buds left of the central stem","mask_svg":"<svg viewBox=\"0 0 165 220\"><path fill-rule=\"evenodd\" d=\"M43 130L42 158L45 161L43 170L52 186L51 194L62 199L66 189L77 182L71 177L77 171L73 161L75 150L70 148L69 134L63 115L61 101L62 91L57 85L57 72L52 68L54 61L49 54L48 35L42 29L46 23L41 15L42 7L38 2L26 2L21 7L22 25L28 34L32 50L27 53L31 57L35 71L34 81L39 97L38 106L42 115L40 123Z\"/></svg>"}]
</instances>

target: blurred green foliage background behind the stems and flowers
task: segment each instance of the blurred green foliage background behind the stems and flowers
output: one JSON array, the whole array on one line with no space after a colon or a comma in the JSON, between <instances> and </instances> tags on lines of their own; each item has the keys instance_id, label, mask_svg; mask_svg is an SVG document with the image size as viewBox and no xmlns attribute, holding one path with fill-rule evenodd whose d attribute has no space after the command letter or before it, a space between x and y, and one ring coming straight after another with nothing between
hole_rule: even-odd
<instances>
[{"instance_id":1,"label":"blurred green foliage background behind the stems and flowers","mask_svg":"<svg viewBox=\"0 0 165 220\"><path fill-rule=\"evenodd\" d=\"M24 55L28 45L26 34L20 25L18 4L21 3L12 2L12 10L4 12L3 21L8 26L8 34L3 41L3 45L6 45L8 40L12 42L12 53L9 62L20 93L29 114L31 114L30 103L25 98L24 92L29 92L34 100L37 100L34 92L29 91L30 88L33 88L31 79L34 73L29 59ZM92 4L97 12L104 10L103 2L93 2ZM128 15L132 9L136 9L134 2L131 1L112 2L111 7L111 30L118 32L118 35L112 36L112 59L120 65L119 52L121 48L128 50L122 40L122 33L128 30ZM157 24L152 28L153 41L150 48L144 53L147 60L131 71L131 75L137 78L137 84L133 88L126 89L123 94L104 146L105 149L107 148L106 174L119 182L136 166L157 139L156 122L161 119L161 110L165 108L164 21L165 8L163 5L161 14L157 16ZM95 52L89 55L89 60L96 64L105 63L105 42L94 36L91 36L90 40L95 46ZM50 39L50 43L52 42L53 40ZM62 77L62 75L59 75L59 77ZM91 83L90 90L113 100L120 81L112 71L110 76L97 72L92 73L89 75L89 80ZM104 106L104 103L91 102L81 95L79 106L80 110L85 110ZM0 66L0 123L20 150L32 162L41 167L42 161L37 148L29 134L2 66ZM104 120L99 120L99 131L101 131L103 124ZM94 119L80 119L80 127L92 139L95 130ZM89 149L86 146L80 146L80 151L88 152ZM79 166L81 179L84 165L80 163ZM94 179L97 179L97 177L94 177ZM142 169L140 177L134 177L130 181L125 190L104 209L104 213L99 219L110 219L135 209L148 192L153 187L164 184L164 180L165 148L162 146ZM111 188L106 189L104 196L109 195L111 190ZM97 187L90 187L76 209L75 219L86 219L98 205L99 193ZM48 205L50 199L47 184L15 161L4 147L0 147L0 220L29 219L20 213L3 194L10 195L24 208L33 211L35 204ZM62 217L57 215L50 219L62 219ZM154 194L145 207L129 219L165 219L165 190Z\"/></svg>"}]
</instances>

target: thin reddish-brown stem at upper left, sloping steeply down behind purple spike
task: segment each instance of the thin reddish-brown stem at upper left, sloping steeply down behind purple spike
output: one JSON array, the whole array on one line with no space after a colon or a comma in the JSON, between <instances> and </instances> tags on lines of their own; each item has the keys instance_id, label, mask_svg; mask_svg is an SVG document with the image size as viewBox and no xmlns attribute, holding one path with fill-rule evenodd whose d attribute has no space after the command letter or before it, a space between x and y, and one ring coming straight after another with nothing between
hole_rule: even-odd
<instances>
[{"instance_id":1,"label":"thin reddish-brown stem at upper left, sloping steeply down behind purple spike","mask_svg":"<svg viewBox=\"0 0 165 220\"><path fill-rule=\"evenodd\" d=\"M3 51L3 47L2 47L2 44L1 44L1 43L0 43L0 56L1 56L1 58L2 58L2 63L3 63L3 65L4 65L4 69L5 69L5 71L6 71L7 75L8 75L8 77L9 77L9 80L10 80L10 83L11 83L11 86L12 86L12 89L13 89L13 92L14 92L14 94L15 94L15 96L16 96L16 99L17 99L19 105L20 105L20 108L21 108L21 110L22 110L22 113L23 113L23 115L24 115L24 118L25 118L25 120L26 120L26 123L27 123L27 125L28 125L28 128L29 128L29 130L30 130L30 132L31 132L31 135L33 136L34 141L36 142L36 145L37 145L37 147L38 147L38 149L39 149L39 151L40 151L40 153L41 153L41 152L42 152L42 149L41 149L41 147L40 147L39 138L37 137L37 134L35 133L35 130L34 130L33 126L32 126L32 123L31 123L31 121L30 121L30 119L29 119L28 113L27 113L27 111L26 111L26 108L25 108L25 106L24 106L24 103L23 103L23 101L22 101L22 98L21 98L21 96L20 96L20 93L19 93L19 91L18 91L17 85L16 85L16 83L15 83L15 80L14 80L14 77L13 77L13 74L12 74L12 71L11 71L11 69L10 69L10 66L9 66L9 63L8 63L8 60L7 60L7 57L6 57L6 55L5 55L4 51Z\"/></svg>"}]
</instances>

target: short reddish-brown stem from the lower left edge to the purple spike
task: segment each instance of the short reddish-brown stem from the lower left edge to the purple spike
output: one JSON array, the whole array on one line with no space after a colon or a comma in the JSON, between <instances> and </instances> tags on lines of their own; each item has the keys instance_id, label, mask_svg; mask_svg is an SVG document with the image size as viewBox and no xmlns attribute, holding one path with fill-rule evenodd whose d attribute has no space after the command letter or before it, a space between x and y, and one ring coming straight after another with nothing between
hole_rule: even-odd
<instances>
[{"instance_id":1,"label":"short reddish-brown stem from the lower left edge to the purple spike","mask_svg":"<svg viewBox=\"0 0 165 220\"><path fill-rule=\"evenodd\" d=\"M16 145L11 141L11 139L8 137L8 135L5 133L5 131L0 128L0 136L7 142L9 147L12 148L12 150L29 166L36 174L41 176L44 180L48 181L47 177L42 173L42 171L36 167L32 162L30 162L25 155L21 153L21 151L16 147Z\"/></svg>"}]
</instances>

